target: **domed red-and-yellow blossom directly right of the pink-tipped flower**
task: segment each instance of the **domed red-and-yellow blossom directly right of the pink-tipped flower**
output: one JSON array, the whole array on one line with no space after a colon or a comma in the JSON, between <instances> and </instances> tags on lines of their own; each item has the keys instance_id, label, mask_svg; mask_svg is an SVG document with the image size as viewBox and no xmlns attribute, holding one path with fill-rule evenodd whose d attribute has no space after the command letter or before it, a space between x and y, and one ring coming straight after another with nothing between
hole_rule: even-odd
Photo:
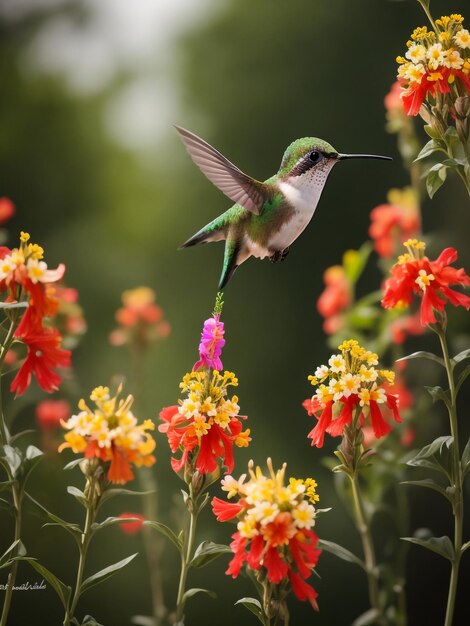
<instances>
[{"instance_id":1,"label":"domed red-and-yellow blossom directly right of the pink-tipped flower","mask_svg":"<svg viewBox=\"0 0 470 626\"><path fill-rule=\"evenodd\" d=\"M394 372L376 369L377 354L369 352L354 339L344 341L338 349L340 354L334 354L328 365L317 367L315 376L309 376L317 390L303 403L309 415L318 419L308 435L312 446L318 448L323 446L325 433L332 437L343 433L353 421L353 413L358 407L362 409L358 423L364 426L368 413L377 438L392 428L385 421L380 405L388 407L397 422L402 421L398 414L398 396L389 393Z\"/></svg>"}]
</instances>

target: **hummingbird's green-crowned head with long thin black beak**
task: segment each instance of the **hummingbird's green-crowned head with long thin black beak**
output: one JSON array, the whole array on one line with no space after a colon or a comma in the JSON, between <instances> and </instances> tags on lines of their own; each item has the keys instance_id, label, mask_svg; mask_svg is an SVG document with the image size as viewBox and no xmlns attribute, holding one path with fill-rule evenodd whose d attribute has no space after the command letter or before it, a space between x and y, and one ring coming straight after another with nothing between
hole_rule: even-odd
<instances>
[{"instance_id":1,"label":"hummingbird's green-crowned head with long thin black beak","mask_svg":"<svg viewBox=\"0 0 470 626\"><path fill-rule=\"evenodd\" d=\"M329 171L338 161L346 159L386 159L375 154L340 154L333 146L317 137L297 139L287 148L279 168L280 176L312 175L316 170Z\"/></svg>"}]
</instances>

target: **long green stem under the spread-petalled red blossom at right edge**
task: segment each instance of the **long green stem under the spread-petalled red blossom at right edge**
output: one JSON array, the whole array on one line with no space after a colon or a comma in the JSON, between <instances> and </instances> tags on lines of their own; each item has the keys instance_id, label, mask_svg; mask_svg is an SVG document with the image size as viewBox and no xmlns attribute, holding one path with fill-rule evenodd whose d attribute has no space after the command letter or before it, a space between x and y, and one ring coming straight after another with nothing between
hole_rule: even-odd
<instances>
[{"instance_id":1,"label":"long green stem under the spread-petalled red blossom at right edge","mask_svg":"<svg viewBox=\"0 0 470 626\"><path fill-rule=\"evenodd\" d=\"M454 609L455 609L455 597L457 594L457 583L459 577L460 558L462 556L462 532L463 532L463 476L462 468L460 466L460 447L459 447L459 434L457 423L457 393L455 389L454 375L452 363L449 356L449 348L447 346L446 334L443 325L438 326L437 334L441 343L442 355L444 357L444 363L447 371L447 378L449 381L450 390L450 406L449 409L449 422L450 433L453 438L451 447L452 453L452 474L453 474L453 489L454 489L454 502L453 502L453 514L454 514L454 558L452 560L452 571L450 575L449 594L447 597L447 610L444 626L452 626Z\"/></svg>"}]
</instances>

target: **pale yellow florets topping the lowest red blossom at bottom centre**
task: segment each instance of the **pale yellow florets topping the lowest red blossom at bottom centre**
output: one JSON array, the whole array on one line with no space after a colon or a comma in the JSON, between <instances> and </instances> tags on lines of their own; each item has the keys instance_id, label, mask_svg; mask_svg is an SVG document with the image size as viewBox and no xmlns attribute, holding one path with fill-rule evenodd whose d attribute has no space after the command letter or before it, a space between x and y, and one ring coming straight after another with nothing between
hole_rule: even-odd
<instances>
[{"instance_id":1,"label":"pale yellow florets topping the lowest red blossom at bottom centre","mask_svg":"<svg viewBox=\"0 0 470 626\"><path fill-rule=\"evenodd\" d=\"M237 526L242 537L270 536L268 525L274 522L278 525L277 540L287 544L298 531L310 530L315 525L313 504L319 500L315 491L317 483L312 478L290 478L285 485L286 464L275 472L269 458L267 466L269 475L265 476L261 468L254 469L250 461L249 480L245 482L246 474L239 480L227 476L222 480L222 489L228 492L228 498L239 496L247 507Z\"/></svg>"}]
</instances>

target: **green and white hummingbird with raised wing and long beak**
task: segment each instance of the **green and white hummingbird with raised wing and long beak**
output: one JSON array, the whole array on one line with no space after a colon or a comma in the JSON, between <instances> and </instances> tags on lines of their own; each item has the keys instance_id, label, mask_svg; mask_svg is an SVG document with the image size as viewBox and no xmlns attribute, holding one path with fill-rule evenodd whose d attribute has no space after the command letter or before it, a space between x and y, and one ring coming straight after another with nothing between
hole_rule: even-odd
<instances>
[{"instance_id":1,"label":"green and white hummingbird with raised wing and long beak","mask_svg":"<svg viewBox=\"0 0 470 626\"><path fill-rule=\"evenodd\" d=\"M225 240L218 290L251 256L283 261L291 244L315 213L321 192L336 163L347 159L384 159L375 154L340 154L316 137L297 139L286 149L277 174L264 182L243 173L207 141L175 126L186 150L205 176L235 204L180 248Z\"/></svg>"}]
</instances>

